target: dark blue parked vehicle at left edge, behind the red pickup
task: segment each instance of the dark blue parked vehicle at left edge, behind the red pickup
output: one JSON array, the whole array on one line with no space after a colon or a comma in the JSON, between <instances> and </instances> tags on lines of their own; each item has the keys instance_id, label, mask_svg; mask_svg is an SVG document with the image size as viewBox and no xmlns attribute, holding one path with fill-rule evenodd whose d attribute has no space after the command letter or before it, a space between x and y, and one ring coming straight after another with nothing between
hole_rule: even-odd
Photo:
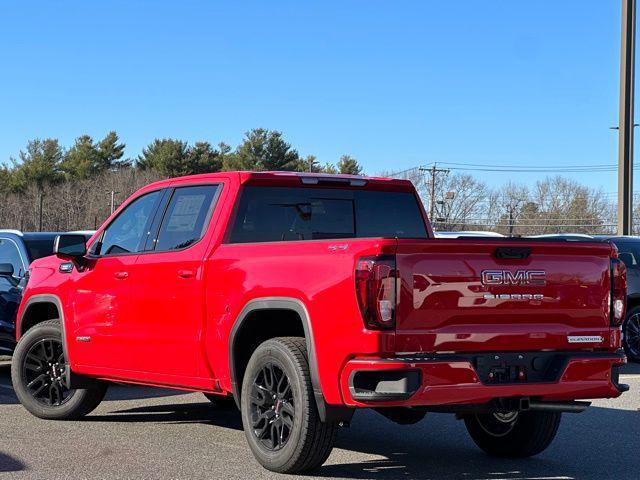
<instances>
[{"instance_id":1,"label":"dark blue parked vehicle at left edge, behind the red pickup","mask_svg":"<svg viewBox=\"0 0 640 480\"><path fill-rule=\"evenodd\" d=\"M91 232L79 233L87 239L91 237ZM11 355L16 345L16 311L29 277L29 265L53 254L57 235L0 230L0 355Z\"/></svg>"}]
</instances>

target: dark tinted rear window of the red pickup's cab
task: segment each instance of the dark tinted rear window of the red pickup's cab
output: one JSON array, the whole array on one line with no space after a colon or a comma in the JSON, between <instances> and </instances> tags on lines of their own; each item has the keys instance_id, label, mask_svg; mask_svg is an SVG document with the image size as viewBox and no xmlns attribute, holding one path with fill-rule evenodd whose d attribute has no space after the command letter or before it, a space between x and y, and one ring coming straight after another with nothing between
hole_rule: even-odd
<instances>
[{"instance_id":1,"label":"dark tinted rear window of the red pickup's cab","mask_svg":"<svg viewBox=\"0 0 640 480\"><path fill-rule=\"evenodd\" d=\"M427 238L411 192L245 186L229 243Z\"/></svg>"}]
</instances>

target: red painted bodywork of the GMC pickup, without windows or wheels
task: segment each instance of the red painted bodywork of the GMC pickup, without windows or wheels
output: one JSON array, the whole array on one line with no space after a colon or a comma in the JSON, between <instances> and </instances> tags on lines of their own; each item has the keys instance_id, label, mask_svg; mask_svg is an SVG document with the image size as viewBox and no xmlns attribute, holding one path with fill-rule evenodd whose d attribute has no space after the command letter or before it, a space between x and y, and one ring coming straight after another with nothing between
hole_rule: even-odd
<instances>
[{"instance_id":1,"label":"red painted bodywork of the GMC pickup, without windows or wheels","mask_svg":"<svg viewBox=\"0 0 640 480\"><path fill-rule=\"evenodd\" d=\"M345 176L349 179L352 177ZM356 369L406 369L383 360L406 352L578 351L611 352L610 359L572 360L553 384L483 385L469 362L422 362L424 384L410 399L386 405L486 402L502 396L543 399L615 397L611 367L620 348L619 328L609 326L611 279L608 244L527 241L436 240L424 209L429 238L382 238L225 243L241 186L301 186L290 173L230 172L166 180L152 190L220 184L222 190L200 241L171 252L90 258L71 274L63 260L32 264L18 313L38 295L59 298L67 356L74 372L97 378L209 392L231 392L230 335L254 299L287 297L301 302L310 320L317 377L331 405L371 406L349 393ZM327 188L326 186L324 188ZM343 184L331 188L349 188ZM365 187L409 191L410 183L370 178ZM417 196L416 196L417 198ZM381 212L383 214L384 212ZM338 245L340 248L335 248ZM498 247L530 247L524 260L499 260ZM395 255L398 278L396 329L365 328L355 292L361 257ZM544 286L487 286L487 269L546 271ZM123 275L126 273L126 275ZM542 300L487 300L487 293L537 294ZM18 336L21 328L18 325ZM568 336L601 336L595 344L568 343ZM90 341L81 341L90 337ZM380 406L381 403L376 403Z\"/></svg>"}]
</instances>

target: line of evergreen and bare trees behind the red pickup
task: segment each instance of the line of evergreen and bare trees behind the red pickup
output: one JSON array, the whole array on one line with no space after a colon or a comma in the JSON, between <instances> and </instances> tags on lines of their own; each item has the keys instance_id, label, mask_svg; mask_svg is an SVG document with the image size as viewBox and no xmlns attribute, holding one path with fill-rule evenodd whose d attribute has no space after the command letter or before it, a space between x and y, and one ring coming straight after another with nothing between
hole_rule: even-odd
<instances>
[{"instance_id":1,"label":"line of evergreen and bare trees behind the red pickup","mask_svg":"<svg viewBox=\"0 0 640 480\"><path fill-rule=\"evenodd\" d=\"M68 148L57 139L35 139L0 167L0 228L95 229L113 207L143 185L230 170L364 173L353 157L343 155L335 164L320 164L313 155L300 155L281 132L261 128L247 132L235 148L226 143L213 146L207 141L189 144L155 139L135 158L125 157L125 144L116 132L99 140L82 135ZM481 177L449 172L433 177L432 189L428 172L414 168L380 175L411 180L427 211L433 198L435 230L491 230L512 235L615 231L612 199L601 189L572 179L558 176L535 184L489 188ZM640 226L640 201L636 205L635 225Z\"/></svg>"}]
</instances>

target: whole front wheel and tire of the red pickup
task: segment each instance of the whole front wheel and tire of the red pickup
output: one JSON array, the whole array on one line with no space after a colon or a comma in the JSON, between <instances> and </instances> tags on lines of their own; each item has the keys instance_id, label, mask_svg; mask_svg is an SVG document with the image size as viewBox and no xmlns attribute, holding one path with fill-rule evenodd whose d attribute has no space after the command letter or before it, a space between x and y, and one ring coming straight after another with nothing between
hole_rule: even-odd
<instances>
[{"instance_id":1,"label":"whole front wheel and tire of the red pickup","mask_svg":"<svg viewBox=\"0 0 640 480\"><path fill-rule=\"evenodd\" d=\"M39 323L20 338L11 362L11 381L20 403L36 417L75 420L104 398L107 384L97 380L92 388L67 389L65 365L58 320Z\"/></svg>"}]
</instances>

